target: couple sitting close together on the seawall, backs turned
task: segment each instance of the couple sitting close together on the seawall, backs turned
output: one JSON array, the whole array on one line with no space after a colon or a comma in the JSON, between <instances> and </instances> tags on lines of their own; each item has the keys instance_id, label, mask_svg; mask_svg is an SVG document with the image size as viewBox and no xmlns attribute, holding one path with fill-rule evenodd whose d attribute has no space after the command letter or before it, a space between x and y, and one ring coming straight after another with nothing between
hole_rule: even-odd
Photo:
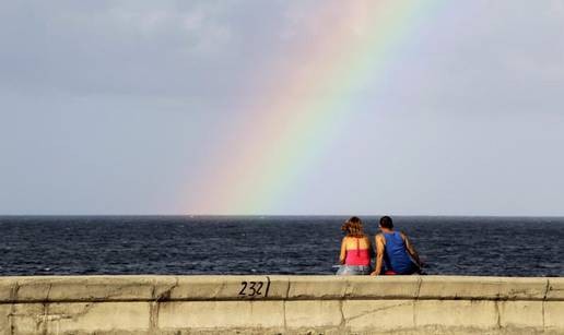
<instances>
[{"instance_id":1,"label":"couple sitting close together on the seawall, backs turned","mask_svg":"<svg viewBox=\"0 0 564 335\"><path fill-rule=\"evenodd\" d=\"M380 218L376 235L376 265L371 273L374 251L371 240L364 234L362 220L353 216L341 227L346 232L341 244L338 275L412 275L421 273L421 261L406 234L393 230L391 217Z\"/></svg>"}]
</instances>

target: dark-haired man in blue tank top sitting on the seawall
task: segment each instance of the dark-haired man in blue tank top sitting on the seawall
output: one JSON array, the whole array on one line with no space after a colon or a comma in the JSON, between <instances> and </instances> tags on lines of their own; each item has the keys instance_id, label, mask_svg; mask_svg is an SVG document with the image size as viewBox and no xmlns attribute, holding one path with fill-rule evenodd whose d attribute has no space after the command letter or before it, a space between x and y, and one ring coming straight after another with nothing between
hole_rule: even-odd
<instances>
[{"instance_id":1,"label":"dark-haired man in blue tank top sitting on the seawall","mask_svg":"<svg viewBox=\"0 0 564 335\"><path fill-rule=\"evenodd\" d=\"M381 234L376 236L376 268L372 276L421 273L421 261L408 237L393 230L391 217L380 218Z\"/></svg>"}]
</instances>

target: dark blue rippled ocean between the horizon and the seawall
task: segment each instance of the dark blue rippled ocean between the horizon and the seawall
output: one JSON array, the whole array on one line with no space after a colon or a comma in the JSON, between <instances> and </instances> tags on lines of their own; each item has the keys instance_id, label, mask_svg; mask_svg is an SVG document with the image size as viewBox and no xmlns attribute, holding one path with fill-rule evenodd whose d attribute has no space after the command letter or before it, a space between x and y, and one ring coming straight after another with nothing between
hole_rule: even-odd
<instances>
[{"instance_id":1,"label":"dark blue rippled ocean between the horizon and the seawall","mask_svg":"<svg viewBox=\"0 0 564 335\"><path fill-rule=\"evenodd\" d=\"M0 216L0 275L330 275L345 218ZM564 218L393 218L426 274L564 276Z\"/></svg>"}]
</instances>

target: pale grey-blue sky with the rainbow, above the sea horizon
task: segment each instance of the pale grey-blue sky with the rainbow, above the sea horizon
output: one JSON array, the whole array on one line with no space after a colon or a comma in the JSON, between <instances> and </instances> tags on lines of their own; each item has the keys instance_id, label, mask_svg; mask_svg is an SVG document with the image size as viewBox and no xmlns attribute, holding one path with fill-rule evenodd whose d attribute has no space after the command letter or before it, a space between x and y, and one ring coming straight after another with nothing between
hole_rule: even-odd
<instances>
[{"instance_id":1,"label":"pale grey-blue sky with the rainbow, above the sea horizon","mask_svg":"<svg viewBox=\"0 0 564 335\"><path fill-rule=\"evenodd\" d=\"M0 214L562 216L564 1L0 2Z\"/></svg>"}]
</instances>

